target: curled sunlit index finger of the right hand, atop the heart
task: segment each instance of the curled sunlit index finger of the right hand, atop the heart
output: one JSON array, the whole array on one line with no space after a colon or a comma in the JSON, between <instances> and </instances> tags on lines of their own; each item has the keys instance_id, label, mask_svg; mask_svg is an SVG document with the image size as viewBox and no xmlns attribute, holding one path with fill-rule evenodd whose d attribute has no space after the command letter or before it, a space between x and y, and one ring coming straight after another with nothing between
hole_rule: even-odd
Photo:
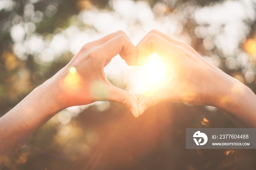
<instances>
[{"instance_id":1,"label":"curled sunlit index finger of the right hand, atop the heart","mask_svg":"<svg viewBox=\"0 0 256 170\"><path fill-rule=\"evenodd\" d=\"M165 61L172 61L182 53L182 50L161 36L151 33L137 47L136 65L143 65L147 62L148 56L154 53L163 57Z\"/></svg>"}]
</instances>

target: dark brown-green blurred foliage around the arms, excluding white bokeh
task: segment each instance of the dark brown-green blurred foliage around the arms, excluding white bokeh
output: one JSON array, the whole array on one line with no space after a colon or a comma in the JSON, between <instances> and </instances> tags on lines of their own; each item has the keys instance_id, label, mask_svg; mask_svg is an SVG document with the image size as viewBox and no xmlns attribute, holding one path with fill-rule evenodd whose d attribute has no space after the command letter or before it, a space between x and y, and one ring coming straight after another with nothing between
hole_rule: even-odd
<instances>
[{"instance_id":1,"label":"dark brown-green blurred foliage around the arms, excluding white bokeh","mask_svg":"<svg viewBox=\"0 0 256 170\"><path fill-rule=\"evenodd\" d=\"M3 2L5 8L1 7ZM178 12L189 15L188 10L193 8L186 7L207 7L223 2L149 0L148 4L155 16L161 18ZM46 43L50 42L47 40L52 40L74 22L87 30L91 26L76 21L74 16L93 7L111 11L110 4L108 0L0 1L0 115L8 112L74 56L71 51L64 51L50 62L38 62L38 53L15 54L16 44L30 36L43 37ZM164 12L158 12L163 7ZM191 46L208 61L217 61L220 69L255 92L256 22L255 19L245 22L249 25L248 37L239 42L238 52L234 55L226 55L219 47L211 46L209 36L197 35L196 29L203 29L207 24L199 26L192 18L182 22L181 34L189 35ZM15 40L11 35L17 24L25 29L22 40ZM19 26L15 28L14 32L19 31ZM98 30L95 28L95 31ZM248 57L244 64L241 64L244 61L241 57L239 64L240 54ZM116 103L98 102L73 107L58 113L36 132L4 170L256 169L255 150L186 150L185 128L201 127L236 126L214 107L180 102L158 104L139 118L134 118Z\"/></svg>"}]
</instances>

